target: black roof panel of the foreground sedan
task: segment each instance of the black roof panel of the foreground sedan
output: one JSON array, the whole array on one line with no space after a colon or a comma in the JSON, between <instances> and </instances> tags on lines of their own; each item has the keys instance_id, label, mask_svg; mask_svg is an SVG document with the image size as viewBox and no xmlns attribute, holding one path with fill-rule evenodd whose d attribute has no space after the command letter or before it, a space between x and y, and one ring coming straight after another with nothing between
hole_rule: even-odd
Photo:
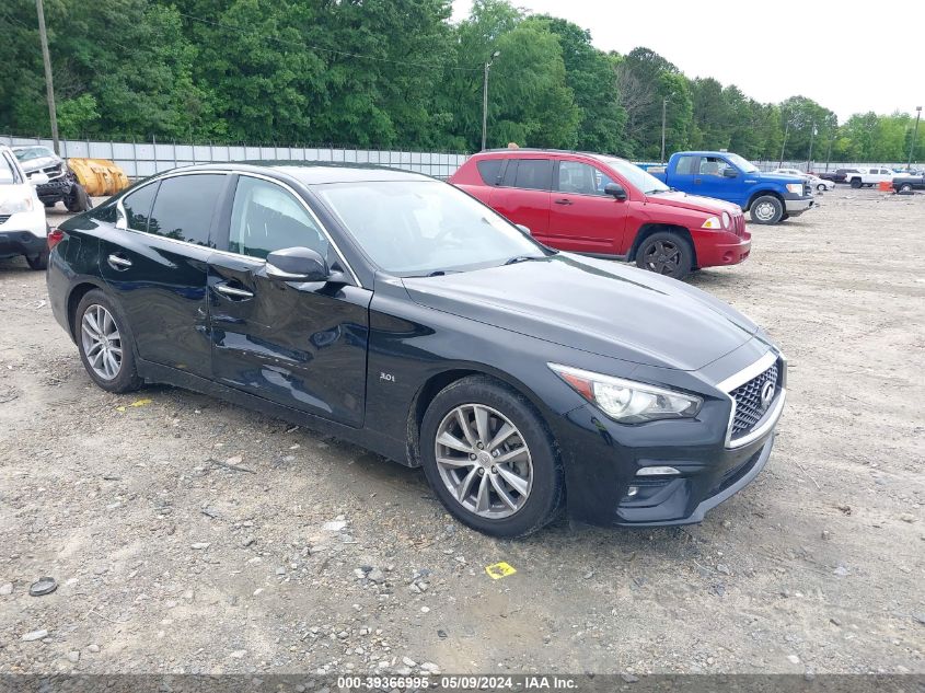
<instances>
[{"instance_id":1,"label":"black roof panel of the foreground sedan","mask_svg":"<svg viewBox=\"0 0 925 693\"><path fill-rule=\"evenodd\" d=\"M369 183L394 181L433 181L431 176L412 171L400 171L388 166L363 163L338 163L331 161L230 161L224 163L205 163L177 171L235 171L239 173L259 173L273 177L296 178L304 185L325 183ZM166 173L166 172L165 172Z\"/></svg>"}]
</instances>

